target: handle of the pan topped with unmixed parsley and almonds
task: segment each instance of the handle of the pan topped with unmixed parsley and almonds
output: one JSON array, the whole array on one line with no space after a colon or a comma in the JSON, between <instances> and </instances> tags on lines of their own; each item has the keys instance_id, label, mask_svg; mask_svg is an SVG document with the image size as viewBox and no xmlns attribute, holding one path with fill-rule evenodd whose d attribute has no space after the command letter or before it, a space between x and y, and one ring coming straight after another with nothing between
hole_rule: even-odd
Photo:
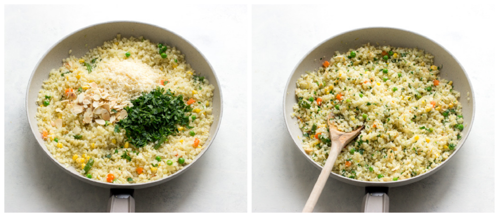
<instances>
[{"instance_id":1,"label":"handle of the pan topped with unmixed parsley and almonds","mask_svg":"<svg viewBox=\"0 0 499 217\"><path fill-rule=\"evenodd\" d=\"M108 213L135 213L133 189L111 189L107 203Z\"/></svg>"}]
</instances>

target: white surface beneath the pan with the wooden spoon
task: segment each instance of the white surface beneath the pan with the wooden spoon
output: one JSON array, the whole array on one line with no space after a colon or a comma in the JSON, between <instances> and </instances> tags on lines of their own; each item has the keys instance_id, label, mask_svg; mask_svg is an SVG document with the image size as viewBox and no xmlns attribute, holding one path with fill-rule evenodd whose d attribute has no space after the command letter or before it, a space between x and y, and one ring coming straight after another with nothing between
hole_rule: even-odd
<instances>
[{"instance_id":1,"label":"white surface beneath the pan with the wooden spoon","mask_svg":"<svg viewBox=\"0 0 499 217\"><path fill-rule=\"evenodd\" d=\"M493 7L402 2L404 12L389 3L377 10L372 2L355 10L351 3L252 7L252 212L301 212L320 173L294 147L284 123L282 97L292 69L321 41L368 26L404 28L442 44L467 70L476 96L462 150L436 174L390 189L390 211L494 212ZM371 18L371 11L382 12ZM359 212L363 196L363 187L330 178L315 212Z\"/></svg>"}]
</instances>

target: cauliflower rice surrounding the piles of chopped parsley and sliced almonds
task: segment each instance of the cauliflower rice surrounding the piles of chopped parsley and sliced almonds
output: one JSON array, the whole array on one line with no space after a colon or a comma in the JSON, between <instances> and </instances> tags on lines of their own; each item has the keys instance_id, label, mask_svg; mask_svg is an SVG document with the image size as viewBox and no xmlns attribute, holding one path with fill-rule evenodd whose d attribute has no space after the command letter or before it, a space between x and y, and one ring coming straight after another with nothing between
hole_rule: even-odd
<instances>
[{"instance_id":1,"label":"cauliflower rice surrounding the piles of chopped parsley and sliced almonds","mask_svg":"<svg viewBox=\"0 0 499 217\"><path fill-rule=\"evenodd\" d=\"M108 174L113 174L112 182L119 184L162 179L190 164L209 139L210 125L213 123L214 86L207 79L200 80L195 76L196 72L186 63L179 50L167 47L167 57L162 58L158 44L143 37L121 38L118 34L102 46L90 49L82 58L70 56L62 60L60 68L52 69L36 101L39 105L36 113L38 129L52 156L66 167L72 166L79 172L92 158L94 164L88 172L91 179L108 182ZM92 68L91 72L87 70L87 64ZM157 86L170 89L175 95L183 95L184 101L191 98L195 100L190 106L193 108L192 115L196 117L195 120L192 120L192 116L189 118L189 126L194 128L179 127L180 133L168 136L168 141L158 150L153 148L154 145L136 148L125 142L125 130L114 131L115 124L111 120L118 121L120 109L127 105L133 106L131 100ZM97 123L98 118L93 120L85 113L78 113L78 105L66 100L66 90L75 95L86 94L89 97L85 99L89 100L101 98L103 101L107 97L110 104L115 103L111 106L115 105L112 108L118 113L111 113L111 120L101 125ZM84 120L84 117L90 122L86 123L88 120ZM126 114L121 116L124 117ZM191 136L189 131L194 131L195 136ZM75 136L81 136L81 139ZM194 145L196 138L199 139L199 145ZM131 161L122 157L125 151ZM158 156L160 161L156 160ZM178 162L181 157L185 159L184 164ZM173 164L167 165L168 160Z\"/></svg>"}]
</instances>

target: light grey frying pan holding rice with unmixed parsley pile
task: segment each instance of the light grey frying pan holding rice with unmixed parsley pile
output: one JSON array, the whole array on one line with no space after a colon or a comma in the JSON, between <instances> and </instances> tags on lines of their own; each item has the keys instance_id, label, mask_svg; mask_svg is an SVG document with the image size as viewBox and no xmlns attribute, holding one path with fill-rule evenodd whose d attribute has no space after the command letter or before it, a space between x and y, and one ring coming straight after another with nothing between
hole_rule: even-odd
<instances>
[{"instance_id":1,"label":"light grey frying pan holding rice with unmixed parsley pile","mask_svg":"<svg viewBox=\"0 0 499 217\"><path fill-rule=\"evenodd\" d=\"M35 102L38 97L38 91L42 88L42 82L48 78L50 70L53 68L59 68L62 65L62 59L69 56L69 50L72 50L70 55L74 55L76 57L83 56L88 49L102 45L104 41L113 39L117 34L121 34L121 37L144 36L144 38L149 39L153 43L167 43L177 47L177 49L185 54L185 60L191 64L191 67L201 75L205 76L210 84L215 86L212 112L214 121L210 128L210 137L206 143L207 145L205 146L205 149L198 154L191 164L185 166L175 174L160 180L136 184L114 184L87 179L78 173L73 167L66 168L63 164L56 161L52 157L52 154L47 150L40 132L38 131L37 121L35 119L37 108ZM43 149L52 162L69 175L85 183L111 189L108 212L135 212L133 189L142 189L165 183L175 177L178 177L191 168L210 148L215 136L217 135L220 122L222 120L222 105L222 91L220 89L220 83L217 75L205 56L201 54L201 52L194 45L170 30L156 25L135 21L111 21L90 25L57 41L52 47L50 47L50 49L48 49L48 51L36 64L31 77L29 78L26 91L27 118L31 131L34 134L39 147Z\"/></svg>"}]
</instances>

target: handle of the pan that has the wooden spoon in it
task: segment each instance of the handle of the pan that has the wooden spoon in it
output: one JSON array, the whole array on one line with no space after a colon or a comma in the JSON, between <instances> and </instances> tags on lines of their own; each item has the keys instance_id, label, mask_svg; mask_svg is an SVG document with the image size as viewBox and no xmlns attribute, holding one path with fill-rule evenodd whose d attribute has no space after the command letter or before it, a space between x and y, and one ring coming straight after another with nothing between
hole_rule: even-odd
<instances>
[{"instance_id":1,"label":"handle of the pan that has the wooden spoon in it","mask_svg":"<svg viewBox=\"0 0 499 217\"><path fill-rule=\"evenodd\" d=\"M362 199L362 213L388 213L388 187L366 187Z\"/></svg>"}]
</instances>

